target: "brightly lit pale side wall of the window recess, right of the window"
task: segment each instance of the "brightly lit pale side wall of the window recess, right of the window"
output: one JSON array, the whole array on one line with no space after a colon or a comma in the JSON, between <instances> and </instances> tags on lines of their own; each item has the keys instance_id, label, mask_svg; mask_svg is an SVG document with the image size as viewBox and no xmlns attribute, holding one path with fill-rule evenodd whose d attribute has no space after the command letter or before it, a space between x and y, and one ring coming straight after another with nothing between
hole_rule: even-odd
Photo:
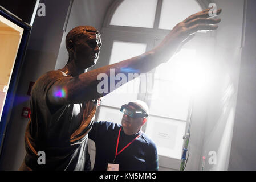
<instances>
[{"instance_id":1,"label":"brightly lit pale side wall of the window recess, right of the window","mask_svg":"<svg viewBox=\"0 0 256 182\"><path fill-rule=\"evenodd\" d=\"M213 70L216 82L210 87L208 109L205 120L204 142L201 149L205 156L205 170L227 170L230 146L233 136L234 114L237 103L239 67L241 61L241 38L243 22L243 1L215 1L222 8L216 35ZM193 132L194 133L194 132ZM216 164L211 158L216 152ZM210 162L209 162L210 160Z\"/></svg>"}]
</instances>

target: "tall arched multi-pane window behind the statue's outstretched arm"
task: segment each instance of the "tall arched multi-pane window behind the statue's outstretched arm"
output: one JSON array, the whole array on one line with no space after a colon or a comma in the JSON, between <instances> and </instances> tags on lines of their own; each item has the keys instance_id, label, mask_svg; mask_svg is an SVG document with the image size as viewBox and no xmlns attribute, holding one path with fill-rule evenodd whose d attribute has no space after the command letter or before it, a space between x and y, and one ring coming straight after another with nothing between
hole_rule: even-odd
<instances>
[{"instance_id":1,"label":"tall arched multi-pane window behind the statue's outstretched arm","mask_svg":"<svg viewBox=\"0 0 256 182\"><path fill-rule=\"evenodd\" d=\"M178 22L206 9L206 4L195 0L114 1L101 30L103 47L99 62L112 64L152 49ZM143 92L145 80L137 77L105 96L97 121L120 123L121 105L132 100L147 102L150 114L143 130L157 144L159 166L179 169L183 136L192 108L190 91L196 85L195 73L200 72L195 64L201 64L213 46L213 32L199 32L169 63L146 74L145 78L155 87L149 85Z\"/></svg>"}]
</instances>

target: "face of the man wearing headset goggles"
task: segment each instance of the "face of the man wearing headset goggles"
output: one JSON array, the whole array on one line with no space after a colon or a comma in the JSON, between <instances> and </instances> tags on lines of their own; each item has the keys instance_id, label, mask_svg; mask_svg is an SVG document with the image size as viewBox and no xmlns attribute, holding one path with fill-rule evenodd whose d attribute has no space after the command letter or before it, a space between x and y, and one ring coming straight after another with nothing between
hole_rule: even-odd
<instances>
[{"instance_id":1,"label":"face of the man wearing headset goggles","mask_svg":"<svg viewBox=\"0 0 256 182\"><path fill-rule=\"evenodd\" d=\"M135 109L132 106L129 106L132 109ZM143 126L144 118L131 118L128 115L124 114L122 118L122 127L124 133L127 135L133 135L140 131L141 126Z\"/></svg>"}]
</instances>

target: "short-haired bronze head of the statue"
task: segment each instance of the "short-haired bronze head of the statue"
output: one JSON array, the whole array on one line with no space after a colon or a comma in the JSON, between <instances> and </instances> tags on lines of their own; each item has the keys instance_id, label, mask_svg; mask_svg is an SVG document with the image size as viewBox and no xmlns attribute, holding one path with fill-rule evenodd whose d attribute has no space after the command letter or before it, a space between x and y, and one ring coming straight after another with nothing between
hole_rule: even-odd
<instances>
[{"instance_id":1,"label":"short-haired bronze head of the statue","mask_svg":"<svg viewBox=\"0 0 256 182\"><path fill-rule=\"evenodd\" d=\"M75 60L80 68L90 68L97 63L100 46L100 33L91 26L75 27L66 36L68 61Z\"/></svg>"}]
</instances>

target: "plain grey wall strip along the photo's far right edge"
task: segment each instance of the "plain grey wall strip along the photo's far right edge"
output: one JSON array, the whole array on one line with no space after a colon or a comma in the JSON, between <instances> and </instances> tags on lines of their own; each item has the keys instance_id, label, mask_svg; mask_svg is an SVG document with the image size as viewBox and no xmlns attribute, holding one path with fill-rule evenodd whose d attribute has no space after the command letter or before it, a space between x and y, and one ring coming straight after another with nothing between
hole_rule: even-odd
<instances>
[{"instance_id":1,"label":"plain grey wall strip along the photo's far right edge","mask_svg":"<svg viewBox=\"0 0 256 182\"><path fill-rule=\"evenodd\" d=\"M256 1L246 6L245 46L242 48L237 110L229 170L256 170Z\"/></svg>"}]
</instances>

